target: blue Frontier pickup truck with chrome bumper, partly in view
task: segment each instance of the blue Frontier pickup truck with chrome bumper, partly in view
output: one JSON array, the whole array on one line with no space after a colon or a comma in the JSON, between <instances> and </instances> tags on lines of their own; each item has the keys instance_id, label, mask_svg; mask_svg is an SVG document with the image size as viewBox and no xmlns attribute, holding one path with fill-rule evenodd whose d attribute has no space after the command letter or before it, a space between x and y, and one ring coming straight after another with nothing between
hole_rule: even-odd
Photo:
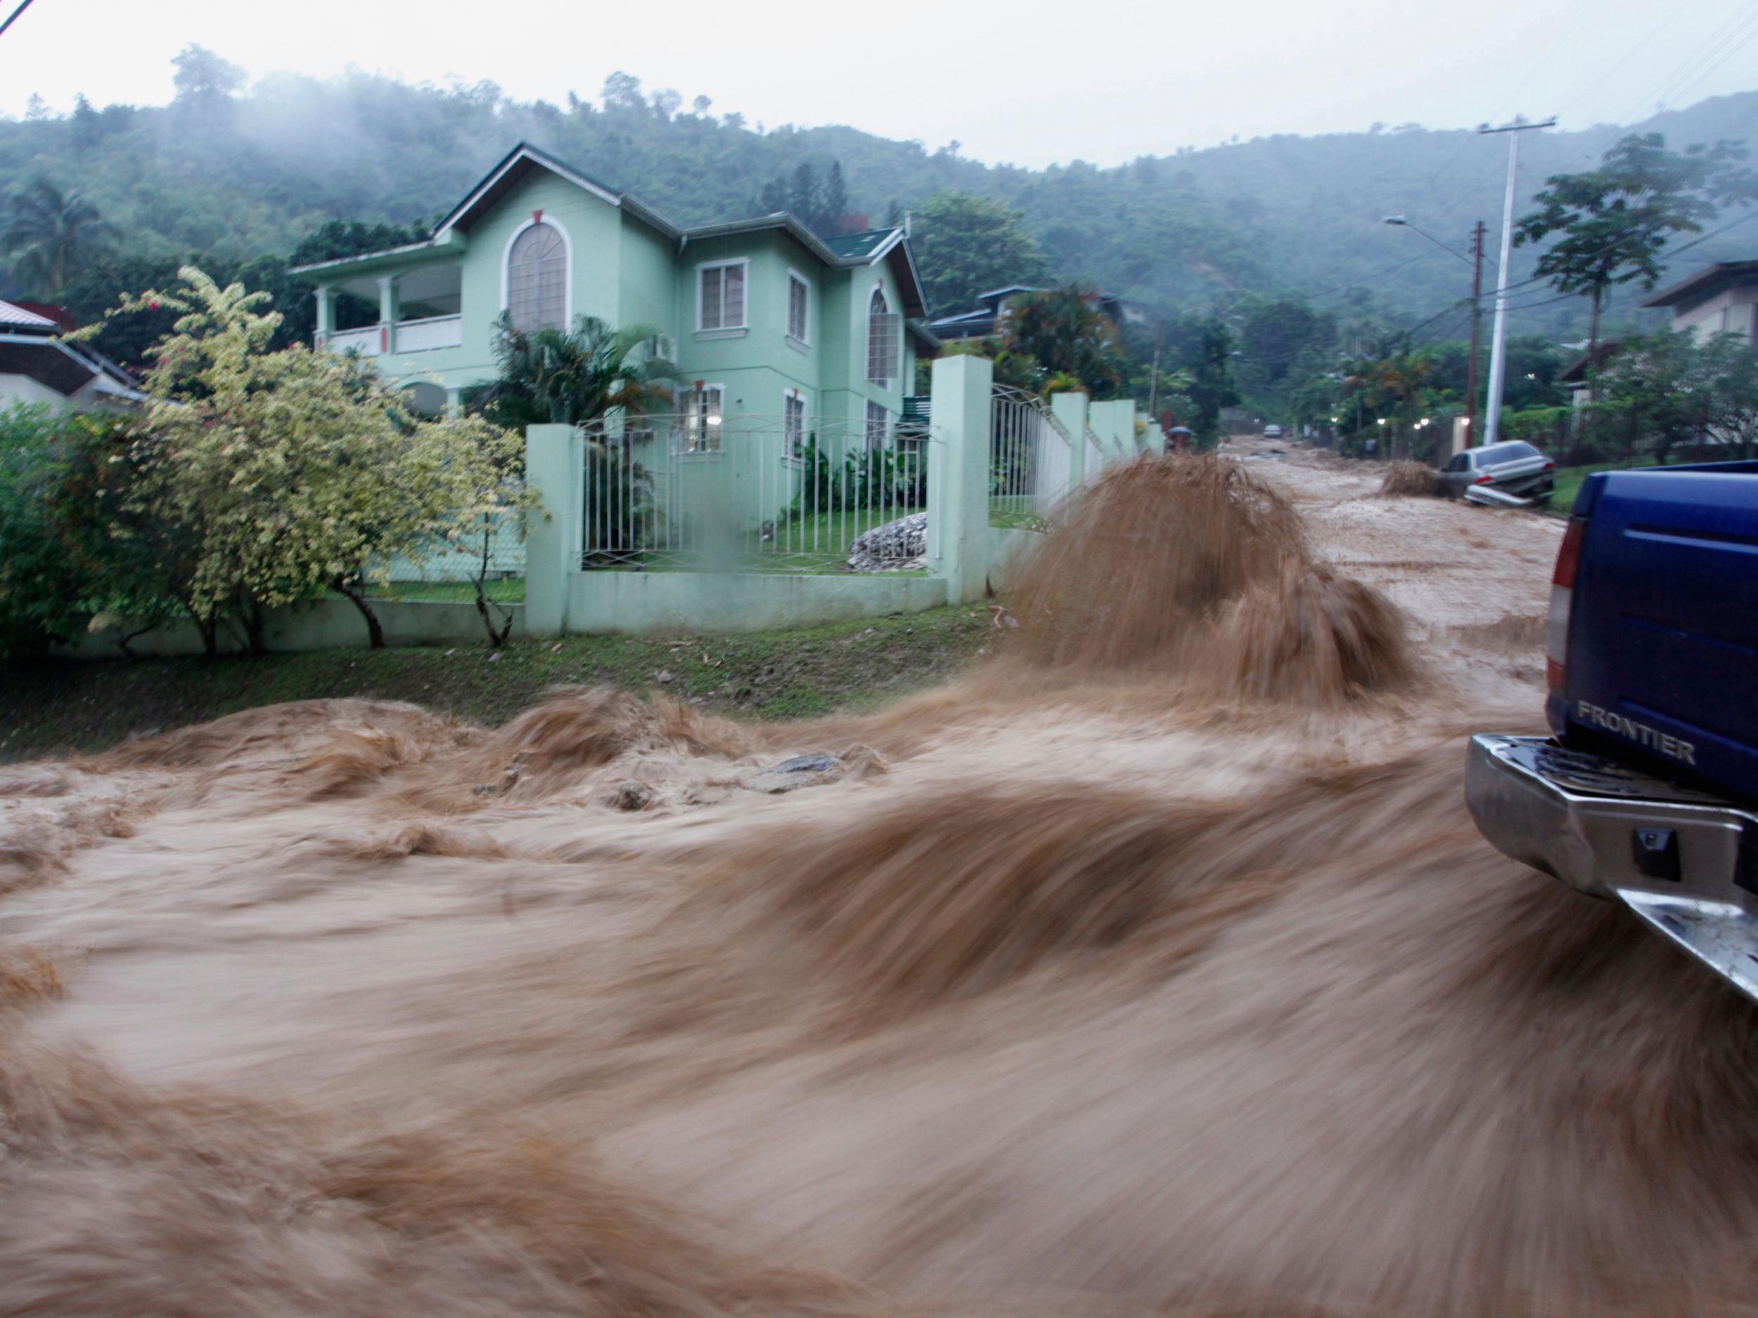
<instances>
[{"instance_id":1,"label":"blue Frontier pickup truck with chrome bumper, partly in view","mask_svg":"<svg viewBox=\"0 0 1758 1318\"><path fill-rule=\"evenodd\" d=\"M1589 476L1545 675L1552 736L1471 738L1478 829L1758 998L1758 462Z\"/></svg>"}]
</instances>

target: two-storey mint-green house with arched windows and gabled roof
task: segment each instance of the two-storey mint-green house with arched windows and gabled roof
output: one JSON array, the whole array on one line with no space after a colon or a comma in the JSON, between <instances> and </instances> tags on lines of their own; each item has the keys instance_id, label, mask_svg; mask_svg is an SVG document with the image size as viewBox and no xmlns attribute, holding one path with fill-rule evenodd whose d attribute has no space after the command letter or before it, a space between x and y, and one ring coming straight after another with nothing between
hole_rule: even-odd
<instances>
[{"instance_id":1,"label":"two-storey mint-green house with arched windows and gabled roof","mask_svg":"<svg viewBox=\"0 0 1758 1318\"><path fill-rule=\"evenodd\" d=\"M888 436L926 332L904 228L821 239L789 214L686 228L527 144L513 148L422 243L302 265L318 346L352 350L411 392L457 408L496 376L503 313L519 329L591 315L650 325L677 364L682 452L719 452L738 415L833 418ZM338 323L352 293L376 308Z\"/></svg>"}]
</instances>

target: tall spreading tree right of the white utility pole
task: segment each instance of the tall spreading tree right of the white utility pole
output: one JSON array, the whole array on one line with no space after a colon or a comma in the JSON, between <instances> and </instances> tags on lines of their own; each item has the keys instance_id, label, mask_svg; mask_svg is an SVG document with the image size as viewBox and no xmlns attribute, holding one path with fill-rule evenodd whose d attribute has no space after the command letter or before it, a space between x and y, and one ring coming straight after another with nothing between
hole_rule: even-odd
<instances>
[{"instance_id":1,"label":"tall spreading tree right of the white utility pole","mask_svg":"<svg viewBox=\"0 0 1758 1318\"><path fill-rule=\"evenodd\" d=\"M1600 313L1612 288L1653 288L1665 271L1667 243L1700 234L1723 206L1758 199L1758 179L1739 169L1746 148L1716 142L1668 151L1660 134L1631 134L1598 169L1554 174L1515 225L1515 244L1561 234L1538 258L1538 276L1558 292L1593 301L1589 357L1600 343Z\"/></svg>"}]
</instances>

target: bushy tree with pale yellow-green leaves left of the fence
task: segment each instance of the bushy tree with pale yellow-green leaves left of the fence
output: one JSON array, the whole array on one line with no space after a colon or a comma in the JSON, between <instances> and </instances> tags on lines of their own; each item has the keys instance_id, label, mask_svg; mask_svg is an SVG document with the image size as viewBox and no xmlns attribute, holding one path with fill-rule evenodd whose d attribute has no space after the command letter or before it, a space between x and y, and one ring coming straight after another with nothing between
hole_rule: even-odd
<instances>
[{"instance_id":1,"label":"bushy tree with pale yellow-green leaves left of the fence","mask_svg":"<svg viewBox=\"0 0 1758 1318\"><path fill-rule=\"evenodd\" d=\"M109 315L171 308L134 424L123 510L178 547L171 590L209 652L236 620L264 648L265 610L334 590L383 631L366 597L392 557L469 552L485 518L515 515L517 436L478 418L413 415L369 367L304 344L272 350L265 293L200 269Z\"/></svg>"}]
</instances>

